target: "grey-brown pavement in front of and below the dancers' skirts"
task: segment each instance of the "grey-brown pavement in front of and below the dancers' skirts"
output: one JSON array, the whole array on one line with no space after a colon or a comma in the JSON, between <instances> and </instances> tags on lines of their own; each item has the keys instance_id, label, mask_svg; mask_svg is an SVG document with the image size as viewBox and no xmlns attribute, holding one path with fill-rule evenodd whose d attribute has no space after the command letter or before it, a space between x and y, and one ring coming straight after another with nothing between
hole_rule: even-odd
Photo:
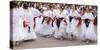
<instances>
[{"instance_id":1,"label":"grey-brown pavement in front of and below the dancers' skirts","mask_svg":"<svg viewBox=\"0 0 100 50\"><path fill-rule=\"evenodd\" d=\"M14 46L14 49L31 49L31 48L47 48L47 47L63 47L63 46L80 46L80 45L96 45L94 43L84 43L80 40L55 40L54 38L38 37L36 41L23 42L20 46Z\"/></svg>"}]
</instances>

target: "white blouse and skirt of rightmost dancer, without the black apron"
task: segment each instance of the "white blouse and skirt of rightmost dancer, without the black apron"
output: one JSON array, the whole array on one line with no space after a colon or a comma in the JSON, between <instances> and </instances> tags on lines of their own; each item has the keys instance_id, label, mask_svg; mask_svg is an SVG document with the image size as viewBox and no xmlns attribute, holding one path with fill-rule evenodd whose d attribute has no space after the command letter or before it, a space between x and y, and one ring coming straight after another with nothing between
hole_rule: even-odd
<instances>
[{"instance_id":1,"label":"white blouse and skirt of rightmost dancer, without the black apron","mask_svg":"<svg viewBox=\"0 0 100 50\"><path fill-rule=\"evenodd\" d=\"M82 21L80 39L81 40L86 40L86 39L96 40L97 35L94 31L94 24L93 24L94 18L91 13L85 13L82 19L87 19L87 18L90 19L91 22L89 23L89 26L86 28L85 23Z\"/></svg>"}]
</instances>

